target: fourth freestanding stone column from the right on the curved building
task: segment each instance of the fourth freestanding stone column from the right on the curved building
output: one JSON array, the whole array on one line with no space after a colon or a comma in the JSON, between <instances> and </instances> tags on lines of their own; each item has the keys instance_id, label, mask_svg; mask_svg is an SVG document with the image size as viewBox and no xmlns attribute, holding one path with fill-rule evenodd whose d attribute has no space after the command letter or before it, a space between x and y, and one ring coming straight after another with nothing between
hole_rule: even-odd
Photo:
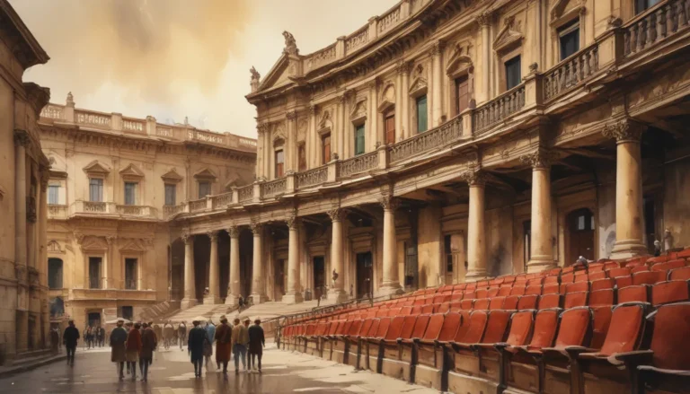
<instances>
[{"instance_id":1,"label":"fourth freestanding stone column from the right on the curved building","mask_svg":"<svg viewBox=\"0 0 690 394\"><path fill-rule=\"evenodd\" d=\"M379 202L384 207L384 269L383 284L379 293L381 295L402 293L398 276L398 241L395 235L395 209L400 202L393 196L384 196Z\"/></svg>"}]
</instances>

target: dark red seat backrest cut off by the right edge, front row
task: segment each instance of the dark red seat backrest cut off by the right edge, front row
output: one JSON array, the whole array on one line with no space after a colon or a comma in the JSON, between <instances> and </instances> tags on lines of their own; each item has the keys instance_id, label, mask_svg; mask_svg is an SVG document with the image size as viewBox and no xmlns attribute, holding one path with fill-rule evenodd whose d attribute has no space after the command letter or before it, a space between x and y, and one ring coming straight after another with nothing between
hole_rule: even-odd
<instances>
[{"instance_id":1,"label":"dark red seat backrest cut off by the right edge, front row","mask_svg":"<svg viewBox=\"0 0 690 394\"><path fill-rule=\"evenodd\" d=\"M661 305L650 319L654 320L650 345L654 351L653 365L668 370L687 370L690 365L690 335L687 335L690 332L690 302Z\"/></svg>"}]
</instances>

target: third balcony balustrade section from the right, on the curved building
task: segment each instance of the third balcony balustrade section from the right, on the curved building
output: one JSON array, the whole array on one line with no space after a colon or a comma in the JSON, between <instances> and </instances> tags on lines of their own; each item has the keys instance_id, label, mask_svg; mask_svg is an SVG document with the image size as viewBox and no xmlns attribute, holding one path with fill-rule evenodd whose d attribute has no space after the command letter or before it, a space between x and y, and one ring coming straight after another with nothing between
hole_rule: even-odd
<instances>
[{"instance_id":1,"label":"third balcony balustrade section from the right, on the curved building","mask_svg":"<svg viewBox=\"0 0 690 394\"><path fill-rule=\"evenodd\" d=\"M525 107L525 83L473 110L473 134L480 136L491 126Z\"/></svg>"}]
</instances>

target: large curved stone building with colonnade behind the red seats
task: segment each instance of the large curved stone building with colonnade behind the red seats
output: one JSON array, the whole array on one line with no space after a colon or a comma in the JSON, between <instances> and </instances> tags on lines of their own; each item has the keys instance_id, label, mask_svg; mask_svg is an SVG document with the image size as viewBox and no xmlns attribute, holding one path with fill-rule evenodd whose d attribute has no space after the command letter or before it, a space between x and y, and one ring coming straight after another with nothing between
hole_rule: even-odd
<instances>
[{"instance_id":1,"label":"large curved stone building with colonnade behind the red seats","mask_svg":"<svg viewBox=\"0 0 690 394\"><path fill-rule=\"evenodd\" d=\"M247 96L258 180L173 222L212 255L251 230L229 293L254 302L688 245L683 4L403 0L306 55L285 32Z\"/></svg>"}]
</instances>

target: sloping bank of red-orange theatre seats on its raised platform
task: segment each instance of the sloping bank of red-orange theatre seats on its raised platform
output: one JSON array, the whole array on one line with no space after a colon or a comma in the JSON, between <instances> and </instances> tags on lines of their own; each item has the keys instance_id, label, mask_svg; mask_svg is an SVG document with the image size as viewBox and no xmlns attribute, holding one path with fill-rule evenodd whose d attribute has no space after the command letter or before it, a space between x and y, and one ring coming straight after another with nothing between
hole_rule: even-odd
<instances>
[{"instance_id":1,"label":"sloping bank of red-orange theatre seats on its raised platform","mask_svg":"<svg viewBox=\"0 0 690 394\"><path fill-rule=\"evenodd\" d=\"M288 319L279 346L455 393L690 393L690 250Z\"/></svg>"}]
</instances>

